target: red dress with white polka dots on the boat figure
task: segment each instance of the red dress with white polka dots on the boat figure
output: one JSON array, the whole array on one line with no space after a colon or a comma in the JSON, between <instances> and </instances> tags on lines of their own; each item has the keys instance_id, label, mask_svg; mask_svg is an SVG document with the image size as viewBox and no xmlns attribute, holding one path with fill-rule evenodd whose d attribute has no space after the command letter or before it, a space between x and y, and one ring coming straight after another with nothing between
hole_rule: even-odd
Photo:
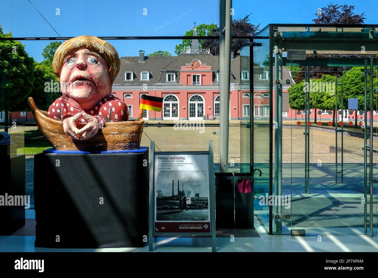
<instances>
[{"instance_id":1,"label":"red dress with white polka dots on the boat figure","mask_svg":"<svg viewBox=\"0 0 378 278\"><path fill-rule=\"evenodd\" d=\"M73 117L79 112L85 112L88 115L98 118L99 122L112 123L129 120L129 112L126 104L113 95L108 95L101 99L91 109L83 110L73 100L67 100L63 96L54 101L48 109L48 117L54 120L64 120L68 117ZM85 119L78 120L81 123L86 123Z\"/></svg>"}]
</instances>

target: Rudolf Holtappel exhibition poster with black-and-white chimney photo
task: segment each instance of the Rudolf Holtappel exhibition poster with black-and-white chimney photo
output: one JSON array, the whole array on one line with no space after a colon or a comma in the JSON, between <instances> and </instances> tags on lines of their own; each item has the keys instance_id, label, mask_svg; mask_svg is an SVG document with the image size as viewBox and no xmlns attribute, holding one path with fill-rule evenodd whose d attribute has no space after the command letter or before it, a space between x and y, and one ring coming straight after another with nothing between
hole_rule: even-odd
<instances>
[{"instance_id":1,"label":"Rudolf Holtappel exhibition poster with black-and-white chimney photo","mask_svg":"<svg viewBox=\"0 0 378 278\"><path fill-rule=\"evenodd\" d=\"M154 154L155 233L210 233L208 154Z\"/></svg>"}]
</instances>

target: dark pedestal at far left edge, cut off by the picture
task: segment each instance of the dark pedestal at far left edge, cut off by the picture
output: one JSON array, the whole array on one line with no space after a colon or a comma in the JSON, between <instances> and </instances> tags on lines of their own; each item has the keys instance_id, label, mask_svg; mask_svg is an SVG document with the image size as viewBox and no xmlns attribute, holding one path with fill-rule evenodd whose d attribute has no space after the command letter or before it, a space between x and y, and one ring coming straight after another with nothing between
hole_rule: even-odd
<instances>
[{"instance_id":1,"label":"dark pedestal at far left edge, cut off by the picture","mask_svg":"<svg viewBox=\"0 0 378 278\"><path fill-rule=\"evenodd\" d=\"M16 148L17 150L17 148ZM0 196L25 197L25 155L10 157L10 145L0 145ZM15 199L14 199L15 200ZM21 199L19 199L21 200ZM0 205L0 235L12 235L25 225L25 205Z\"/></svg>"}]
</instances>

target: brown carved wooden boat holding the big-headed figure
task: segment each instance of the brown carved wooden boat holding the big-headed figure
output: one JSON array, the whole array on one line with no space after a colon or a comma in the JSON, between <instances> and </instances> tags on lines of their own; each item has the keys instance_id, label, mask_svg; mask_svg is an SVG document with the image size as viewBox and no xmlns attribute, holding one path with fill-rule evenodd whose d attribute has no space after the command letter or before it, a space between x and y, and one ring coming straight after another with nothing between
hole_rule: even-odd
<instances>
[{"instance_id":1,"label":"brown carved wooden boat holding the big-headed figure","mask_svg":"<svg viewBox=\"0 0 378 278\"><path fill-rule=\"evenodd\" d=\"M63 130L62 121L49 118L46 111L37 108L34 99L28 103L33 112L38 129L54 149L60 151L120 151L139 149L144 120L143 109L138 119L125 122L106 123L98 133L86 140L74 140ZM84 124L82 125L84 126ZM82 126L77 126L79 129Z\"/></svg>"}]
</instances>

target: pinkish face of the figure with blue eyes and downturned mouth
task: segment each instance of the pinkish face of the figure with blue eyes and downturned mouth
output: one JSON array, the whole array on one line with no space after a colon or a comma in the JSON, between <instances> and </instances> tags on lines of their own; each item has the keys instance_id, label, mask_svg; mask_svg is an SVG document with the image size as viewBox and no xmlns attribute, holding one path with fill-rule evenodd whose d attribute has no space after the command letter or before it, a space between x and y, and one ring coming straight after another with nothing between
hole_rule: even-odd
<instances>
[{"instance_id":1,"label":"pinkish face of the figure with blue eyes and downturned mouth","mask_svg":"<svg viewBox=\"0 0 378 278\"><path fill-rule=\"evenodd\" d=\"M81 48L64 59L60 87L82 109L89 109L112 93L107 62L98 53Z\"/></svg>"}]
</instances>

